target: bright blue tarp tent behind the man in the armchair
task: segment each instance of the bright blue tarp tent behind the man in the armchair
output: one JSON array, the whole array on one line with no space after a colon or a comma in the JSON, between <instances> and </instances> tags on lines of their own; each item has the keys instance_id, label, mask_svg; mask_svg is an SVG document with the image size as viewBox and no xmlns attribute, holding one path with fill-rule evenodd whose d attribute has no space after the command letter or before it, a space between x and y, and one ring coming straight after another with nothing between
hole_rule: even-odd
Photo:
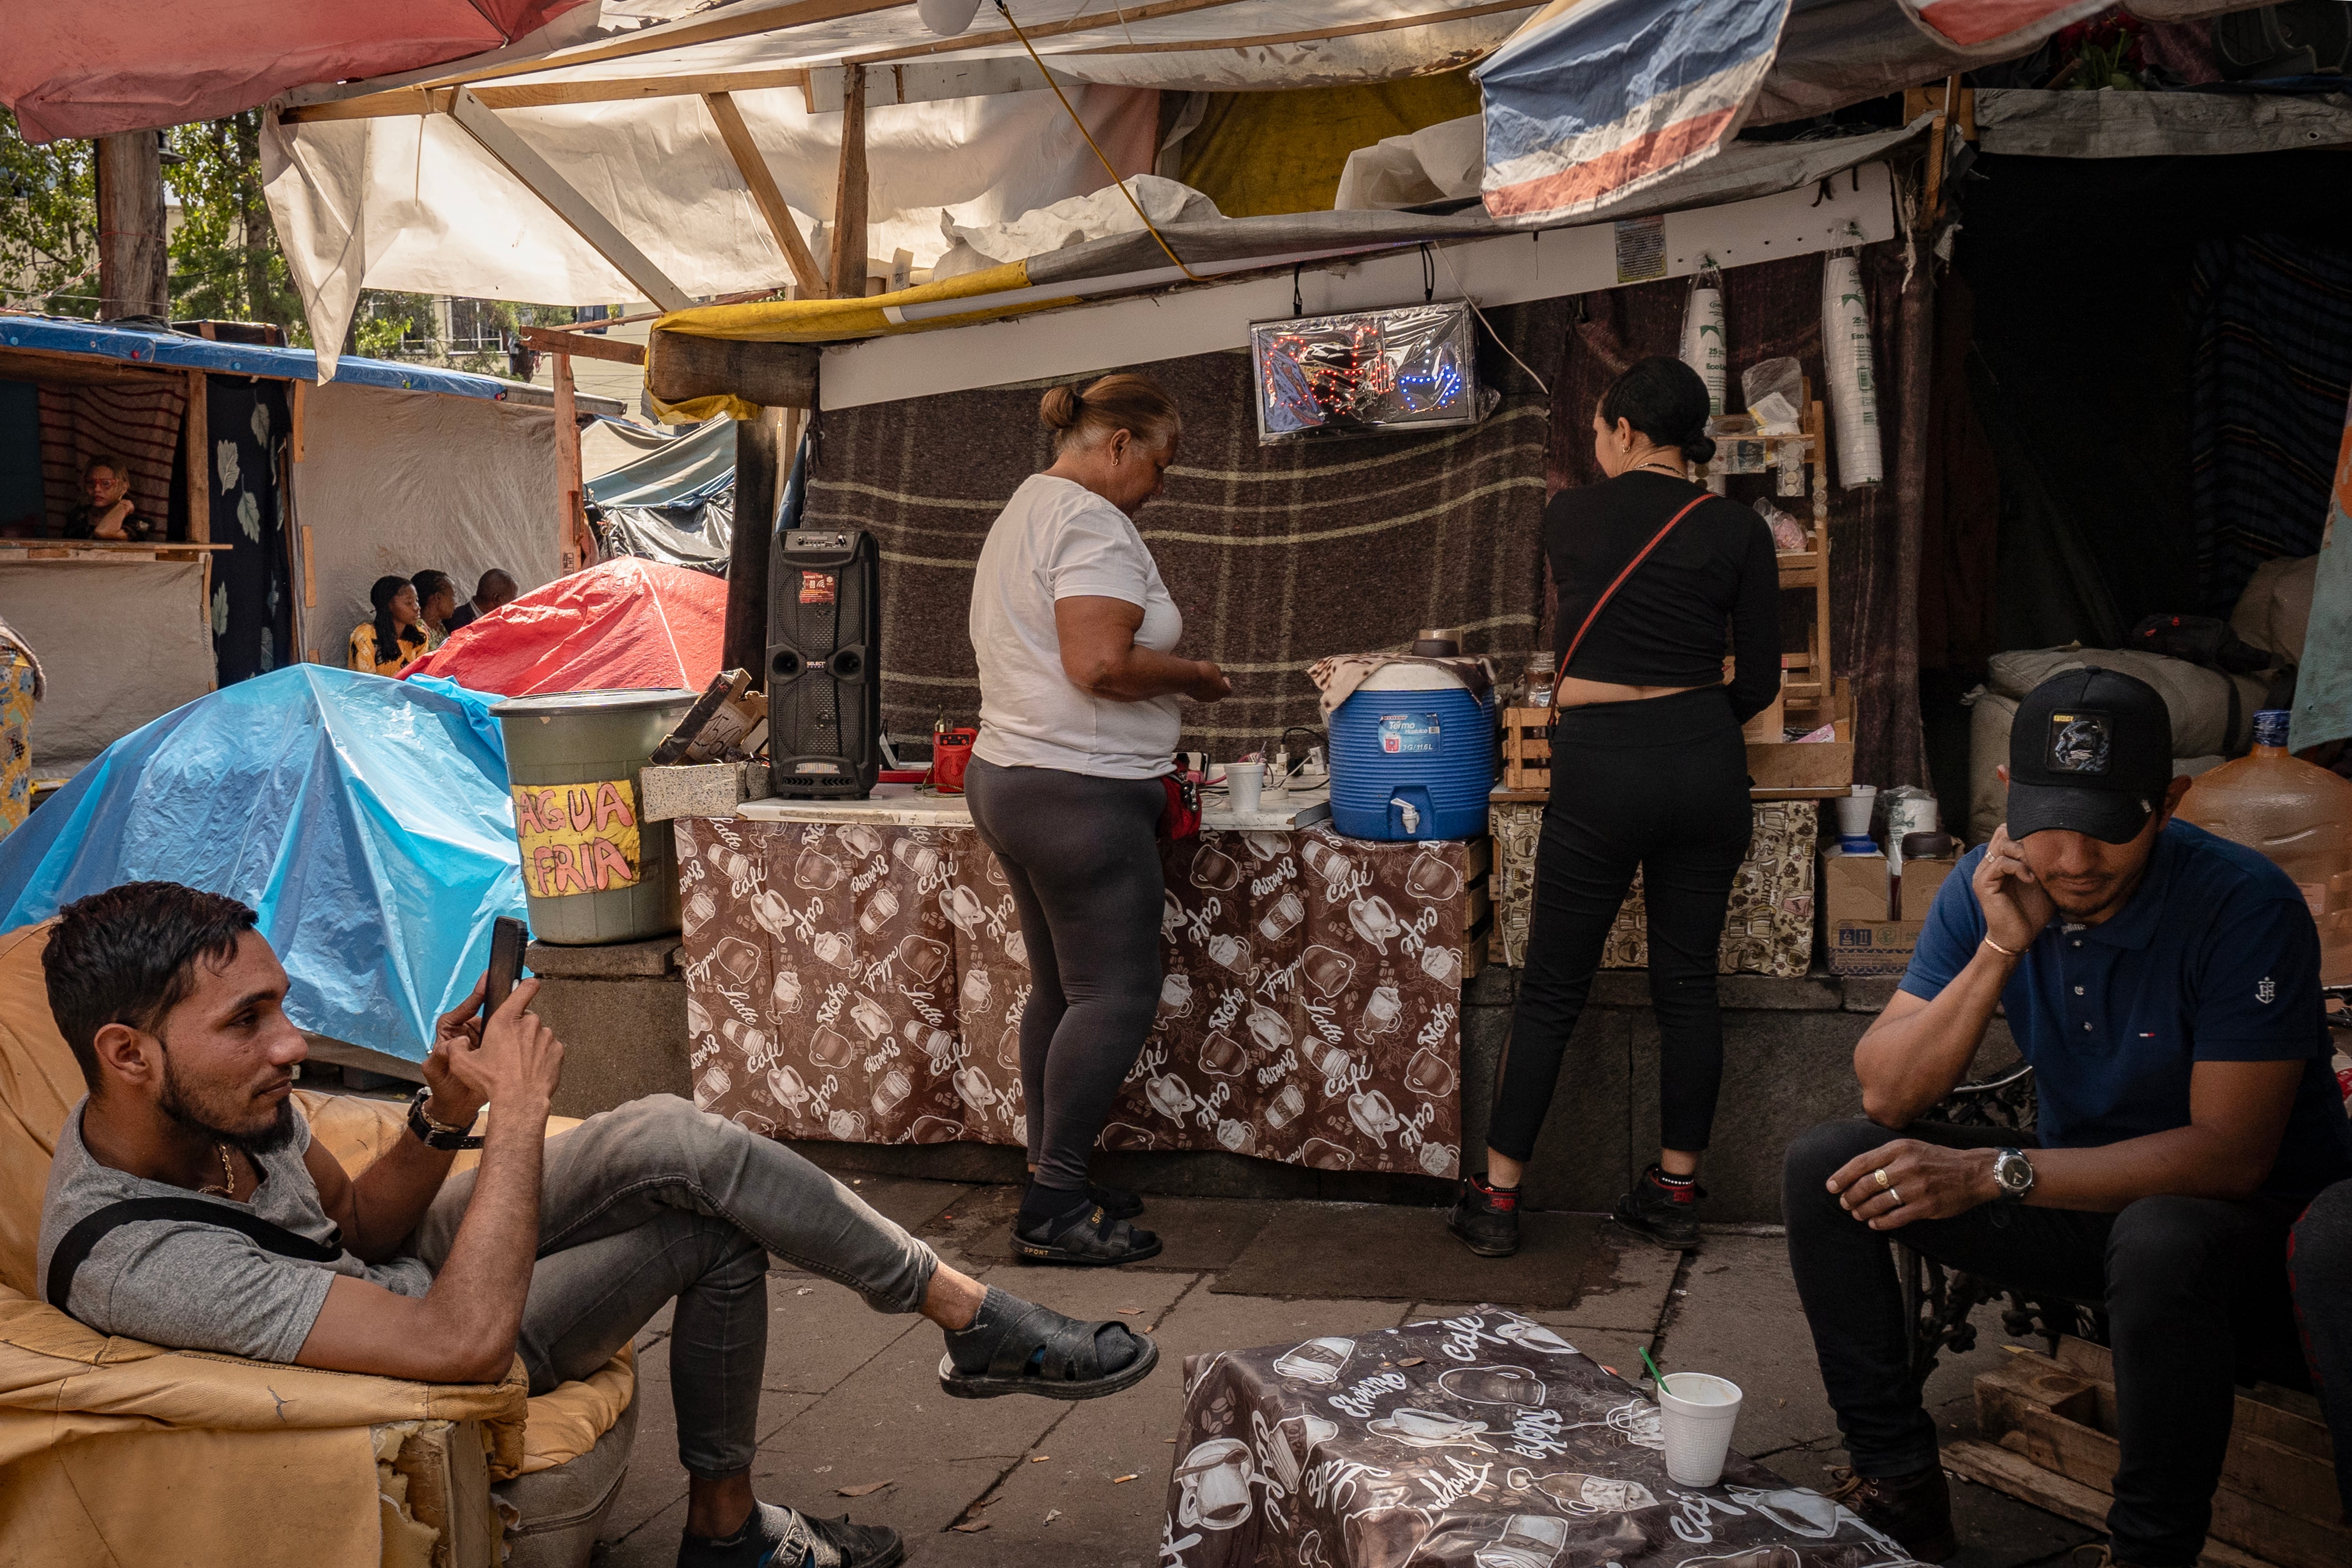
<instances>
[{"instance_id":1,"label":"bright blue tarp tent behind the man in the armchair","mask_svg":"<svg viewBox=\"0 0 2352 1568\"><path fill-rule=\"evenodd\" d=\"M0 839L0 931L120 882L228 893L299 1027L423 1060L492 919L524 917L494 701L289 665L174 708Z\"/></svg>"}]
</instances>

